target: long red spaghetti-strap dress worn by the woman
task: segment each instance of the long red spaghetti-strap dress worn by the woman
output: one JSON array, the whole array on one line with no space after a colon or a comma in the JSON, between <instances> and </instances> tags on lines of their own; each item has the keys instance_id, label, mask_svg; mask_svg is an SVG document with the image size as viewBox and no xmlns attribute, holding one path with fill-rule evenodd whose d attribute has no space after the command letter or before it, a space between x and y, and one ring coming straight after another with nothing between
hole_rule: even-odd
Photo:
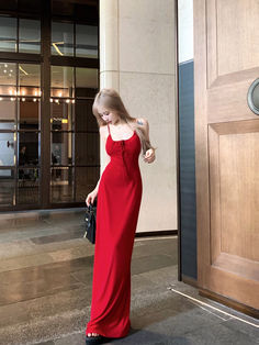
<instances>
[{"instance_id":1,"label":"long red spaghetti-strap dress worn by the woman","mask_svg":"<svg viewBox=\"0 0 259 345\"><path fill-rule=\"evenodd\" d=\"M108 129L105 149L111 162L98 190L91 318L86 335L123 337L131 327L131 260L143 192L142 145L135 131L128 140L113 141L109 124Z\"/></svg>"}]
</instances>

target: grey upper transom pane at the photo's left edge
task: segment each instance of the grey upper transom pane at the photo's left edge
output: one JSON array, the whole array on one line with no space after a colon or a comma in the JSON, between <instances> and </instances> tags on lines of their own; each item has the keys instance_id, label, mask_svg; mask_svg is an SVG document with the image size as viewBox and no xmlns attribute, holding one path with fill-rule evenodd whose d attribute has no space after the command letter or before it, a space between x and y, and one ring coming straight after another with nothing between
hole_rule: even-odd
<instances>
[{"instance_id":1,"label":"grey upper transom pane at the photo's left edge","mask_svg":"<svg viewBox=\"0 0 259 345\"><path fill-rule=\"evenodd\" d=\"M0 16L0 52L16 52L16 25L15 18Z\"/></svg>"}]
</instances>

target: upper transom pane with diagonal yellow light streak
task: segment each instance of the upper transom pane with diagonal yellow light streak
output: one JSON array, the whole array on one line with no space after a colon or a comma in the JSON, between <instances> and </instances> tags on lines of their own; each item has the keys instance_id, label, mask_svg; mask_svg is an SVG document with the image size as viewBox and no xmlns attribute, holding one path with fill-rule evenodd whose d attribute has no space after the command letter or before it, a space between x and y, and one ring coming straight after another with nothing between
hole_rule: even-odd
<instances>
[{"instance_id":1,"label":"upper transom pane with diagonal yellow light streak","mask_svg":"<svg viewBox=\"0 0 259 345\"><path fill-rule=\"evenodd\" d=\"M74 24L52 23L52 54L74 55Z\"/></svg>"}]
</instances>

